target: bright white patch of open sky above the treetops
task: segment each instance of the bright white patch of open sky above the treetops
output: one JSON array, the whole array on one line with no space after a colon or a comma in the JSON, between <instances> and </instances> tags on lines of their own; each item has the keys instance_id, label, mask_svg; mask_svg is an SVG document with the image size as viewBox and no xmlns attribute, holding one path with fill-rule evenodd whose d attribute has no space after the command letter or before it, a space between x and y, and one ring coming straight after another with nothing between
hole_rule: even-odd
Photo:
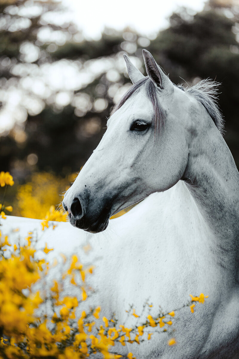
<instances>
[{"instance_id":1,"label":"bright white patch of open sky above the treetops","mask_svg":"<svg viewBox=\"0 0 239 359\"><path fill-rule=\"evenodd\" d=\"M150 36L167 27L167 18L178 7L202 10L203 0L154 0L150 3L135 0L63 0L73 10L74 21L89 38L98 39L104 27L123 29L130 26L143 35Z\"/></svg>"}]
</instances>

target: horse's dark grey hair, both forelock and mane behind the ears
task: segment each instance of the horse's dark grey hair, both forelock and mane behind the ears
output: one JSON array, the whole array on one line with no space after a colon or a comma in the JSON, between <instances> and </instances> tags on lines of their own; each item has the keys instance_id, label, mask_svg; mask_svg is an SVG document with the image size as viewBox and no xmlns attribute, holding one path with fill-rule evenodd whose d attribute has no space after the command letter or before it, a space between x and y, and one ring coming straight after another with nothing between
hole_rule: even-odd
<instances>
[{"instance_id":1,"label":"horse's dark grey hair, both forelock and mane behind the ears","mask_svg":"<svg viewBox=\"0 0 239 359\"><path fill-rule=\"evenodd\" d=\"M218 86L220 83L212 80L201 80L196 85L191 87L183 87L182 85L177 85L181 90L188 92L194 95L207 110L212 120L214 121L216 127L218 127L221 134L224 134L224 119L219 109L217 99L218 99ZM175 85L176 86L176 85ZM154 111L154 123L155 123L155 132L157 134L161 133L161 130L164 126L164 120L166 118L166 112L160 106L157 98L157 89L153 81L145 76L143 79L140 79L135 83L129 90L123 95L118 103L116 103L111 115L117 111L123 104L130 98L133 94L137 93L140 88L145 87L146 94L153 105Z\"/></svg>"}]
</instances>

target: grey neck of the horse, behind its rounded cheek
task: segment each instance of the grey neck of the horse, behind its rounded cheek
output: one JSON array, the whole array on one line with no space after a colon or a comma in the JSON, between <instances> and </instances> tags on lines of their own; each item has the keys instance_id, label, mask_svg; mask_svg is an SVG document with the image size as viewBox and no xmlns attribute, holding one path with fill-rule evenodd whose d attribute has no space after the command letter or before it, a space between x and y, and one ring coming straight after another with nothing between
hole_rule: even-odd
<instances>
[{"instance_id":1,"label":"grey neck of the horse, behind its rounded cheek","mask_svg":"<svg viewBox=\"0 0 239 359\"><path fill-rule=\"evenodd\" d=\"M239 173L216 126L192 145L185 171L188 190L218 245L237 252L239 235Z\"/></svg>"}]
</instances>

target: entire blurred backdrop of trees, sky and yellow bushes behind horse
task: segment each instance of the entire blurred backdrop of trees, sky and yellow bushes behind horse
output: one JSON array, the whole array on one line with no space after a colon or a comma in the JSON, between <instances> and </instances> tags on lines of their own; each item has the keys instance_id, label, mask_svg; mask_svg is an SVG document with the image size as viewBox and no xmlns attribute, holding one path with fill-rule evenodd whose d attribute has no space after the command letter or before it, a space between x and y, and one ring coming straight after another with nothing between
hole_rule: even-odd
<instances>
[{"instance_id":1,"label":"entire blurred backdrop of trees, sky and yellow bushes behind horse","mask_svg":"<svg viewBox=\"0 0 239 359\"><path fill-rule=\"evenodd\" d=\"M239 167L239 0L166 3L0 0L0 171L15 181L12 214L44 218L58 205L131 86L123 53L145 75L142 48L175 84L221 82Z\"/></svg>"}]
</instances>

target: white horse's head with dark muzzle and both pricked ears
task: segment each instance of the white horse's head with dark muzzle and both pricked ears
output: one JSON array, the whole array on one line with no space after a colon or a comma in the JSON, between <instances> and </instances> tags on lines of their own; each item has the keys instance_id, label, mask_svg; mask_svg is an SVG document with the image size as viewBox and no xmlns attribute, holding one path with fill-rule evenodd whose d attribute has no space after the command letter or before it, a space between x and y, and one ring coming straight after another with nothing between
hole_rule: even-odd
<instances>
[{"instance_id":1,"label":"white horse's head with dark muzzle and both pricked ears","mask_svg":"<svg viewBox=\"0 0 239 359\"><path fill-rule=\"evenodd\" d=\"M174 85L143 50L148 76L124 55L133 86L116 104L107 130L63 200L70 223L91 233L109 218L165 191L183 176L199 103Z\"/></svg>"}]
</instances>

